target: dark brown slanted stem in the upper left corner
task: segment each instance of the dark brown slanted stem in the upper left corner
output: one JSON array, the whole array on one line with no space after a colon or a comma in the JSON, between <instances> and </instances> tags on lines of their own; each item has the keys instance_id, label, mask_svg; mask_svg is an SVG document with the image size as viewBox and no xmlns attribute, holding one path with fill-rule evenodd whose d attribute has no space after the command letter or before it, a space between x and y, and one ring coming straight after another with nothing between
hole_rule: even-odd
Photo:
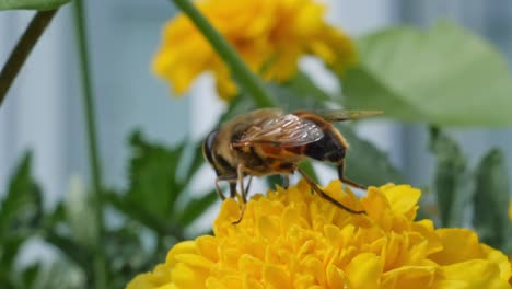
<instances>
[{"instance_id":1,"label":"dark brown slanted stem in the upper left corner","mask_svg":"<svg viewBox=\"0 0 512 289\"><path fill-rule=\"evenodd\" d=\"M48 11L38 11L26 27L23 35L18 41L16 46L9 56L5 66L0 72L0 107L5 99L11 84L14 82L20 69L25 63L26 58L34 48L45 28L54 19L58 9Z\"/></svg>"}]
</instances>

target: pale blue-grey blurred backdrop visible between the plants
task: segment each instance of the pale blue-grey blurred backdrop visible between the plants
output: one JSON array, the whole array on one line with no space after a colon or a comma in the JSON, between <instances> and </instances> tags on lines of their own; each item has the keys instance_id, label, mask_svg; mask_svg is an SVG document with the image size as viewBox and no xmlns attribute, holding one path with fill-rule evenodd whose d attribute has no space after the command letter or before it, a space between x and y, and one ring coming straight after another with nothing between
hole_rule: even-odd
<instances>
[{"instance_id":1,"label":"pale blue-grey blurred backdrop visible between the plants","mask_svg":"<svg viewBox=\"0 0 512 289\"><path fill-rule=\"evenodd\" d=\"M428 26L444 18L490 41L507 55L509 67L512 61L512 2L508 0L492 4L485 0L325 2L330 8L328 20L356 37L392 24ZM197 140L213 128L224 104L213 94L209 76L202 76L188 95L177 99L170 96L167 83L151 73L162 26L176 13L168 1L90 0L85 8L104 181L107 186L123 187L127 185L127 138L133 129L168 146L187 137ZM1 63L32 14L0 12ZM0 108L0 192L5 192L22 153L33 150L33 173L43 186L47 208L68 190L71 176L89 180L72 27L70 5L66 5L50 23ZM304 59L301 66L318 85L331 91L340 89L323 74L318 62ZM358 132L386 151L393 163L404 169L409 183L421 187L431 181L433 166L423 126L377 120L358 125ZM450 134L463 143L472 165L489 148L499 147L512 167L512 128L450 129ZM201 173L209 181L195 185L211 187L213 173L209 169ZM509 180L510 173L512 170ZM23 258L51 255L40 251L40 246L37 240L31 242L32 248Z\"/></svg>"}]
</instances>

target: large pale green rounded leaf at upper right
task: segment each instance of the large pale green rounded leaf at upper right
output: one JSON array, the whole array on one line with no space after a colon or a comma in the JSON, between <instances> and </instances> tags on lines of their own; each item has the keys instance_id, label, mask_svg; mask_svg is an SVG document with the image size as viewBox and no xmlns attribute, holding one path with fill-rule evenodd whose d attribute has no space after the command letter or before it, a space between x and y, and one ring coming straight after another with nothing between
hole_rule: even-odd
<instances>
[{"instance_id":1,"label":"large pale green rounded leaf at upper right","mask_svg":"<svg viewBox=\"0 0 512 289\"><path fill-rule=\"evenodd\" d=\"M480 37L440 22L398 26L358 43L360 63L342 79L346 105L446 126L512 123L505 58Z\"/></svg>"}]
</instances>

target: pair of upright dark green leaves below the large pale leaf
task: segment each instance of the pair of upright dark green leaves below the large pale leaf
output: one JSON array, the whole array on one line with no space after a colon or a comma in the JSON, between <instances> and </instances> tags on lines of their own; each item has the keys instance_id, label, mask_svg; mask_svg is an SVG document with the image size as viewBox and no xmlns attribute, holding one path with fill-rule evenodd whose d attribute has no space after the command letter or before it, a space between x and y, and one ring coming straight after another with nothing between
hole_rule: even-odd
<instances>
[{"instance_id":1,"label":"pair of upright dark green leaves below the large pale leaf","mask_svg":"<svg viewBox=\"0 0 512 289\"><path fill-rule=\"evenodd\" d=\"M512 253L510 186L503 153L491 148L472 169L461 146L445 132L432 127L430 135L437 158L432 187L440 226L474 228L482 242Z\"/></svg>"}]
</instances>

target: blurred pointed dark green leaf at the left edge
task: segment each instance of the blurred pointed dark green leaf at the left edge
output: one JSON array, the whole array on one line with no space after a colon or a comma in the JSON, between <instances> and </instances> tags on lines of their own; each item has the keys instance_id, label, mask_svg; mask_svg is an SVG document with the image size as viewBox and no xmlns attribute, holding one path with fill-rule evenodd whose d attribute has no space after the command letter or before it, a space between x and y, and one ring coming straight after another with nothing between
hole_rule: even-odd
<instances>
[{"instance_id":1,"label":"blurred pointed dark green leaf at the left edge","mask_svg":"<svg viewBox=\"0 0 512 289\"><path fill-rule=\"evenodd\" d=\"M0 242L18 232L37 229L43 216L42 193L31 176L32 154L26 153L0 203Z\"/></svg>"}]
</instances>

